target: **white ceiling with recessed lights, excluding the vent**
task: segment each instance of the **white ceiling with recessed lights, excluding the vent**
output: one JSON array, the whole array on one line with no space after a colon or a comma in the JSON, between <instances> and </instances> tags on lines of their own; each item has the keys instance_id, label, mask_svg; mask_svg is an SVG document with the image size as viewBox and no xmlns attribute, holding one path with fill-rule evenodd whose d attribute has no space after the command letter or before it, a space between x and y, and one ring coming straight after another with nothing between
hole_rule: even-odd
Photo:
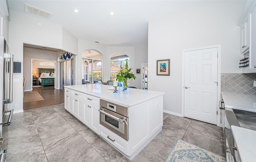
<instances>
[{"instance_id":1,"label":"white ceiling with recessed lights, excluding the vent","mask_svg":"<svg viewBox=\"0 0 256 162\"><path fill-rule=\"evenodd\" d=\"M140 46L148 43L150 20L173 14L178 10L191 9L198 3L210 2L214 1L8 0L8 6L9 10L24 12L26 3L51 12L52 16L48 19L50 22L62 25L76 38L82 40L108 46ZM79 12L74 12L74 9ZM115 14L111 16L110 12Z\"/></svg>"}]
</instances>

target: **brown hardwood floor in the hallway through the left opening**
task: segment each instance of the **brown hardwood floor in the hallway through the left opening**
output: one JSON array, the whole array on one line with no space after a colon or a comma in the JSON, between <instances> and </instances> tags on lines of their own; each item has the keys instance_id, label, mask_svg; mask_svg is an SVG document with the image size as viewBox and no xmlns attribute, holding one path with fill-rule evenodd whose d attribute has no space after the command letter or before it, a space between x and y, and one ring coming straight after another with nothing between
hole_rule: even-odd
<instances>
[{"instance_id":1,"label":"brown hardwood floor in the hallway through the left opening","mask_svg":"<svg viewBox=\"0 0 256 162\"><path fill-rule=\"evenodd\" d=\"M54 89L54 86L35 87L33 88L33 91L37 91L44 98L44 100L23 103L23 110L41 108L64 102L64 91Z\"/></svg>"}]
</instances>

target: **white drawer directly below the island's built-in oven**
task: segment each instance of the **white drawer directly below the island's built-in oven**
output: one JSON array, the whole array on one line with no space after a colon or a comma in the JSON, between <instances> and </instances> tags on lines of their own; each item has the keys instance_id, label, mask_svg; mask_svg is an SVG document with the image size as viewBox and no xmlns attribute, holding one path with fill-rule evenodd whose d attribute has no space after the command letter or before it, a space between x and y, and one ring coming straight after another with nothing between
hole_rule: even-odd
<instances>
[{"instance_id":1,"label":"white drawer directly below the island's built-in oven","mask_svg":"<svg viewBox=\"0 0 256 162\"><path fill-rule=\"evenodd\" d=\"M128 142L126 140L122 139L121 137L101 125L100 136L102 136L106 141L118 148L124 154L128 155Z\"/></svg>"}]
</instances>

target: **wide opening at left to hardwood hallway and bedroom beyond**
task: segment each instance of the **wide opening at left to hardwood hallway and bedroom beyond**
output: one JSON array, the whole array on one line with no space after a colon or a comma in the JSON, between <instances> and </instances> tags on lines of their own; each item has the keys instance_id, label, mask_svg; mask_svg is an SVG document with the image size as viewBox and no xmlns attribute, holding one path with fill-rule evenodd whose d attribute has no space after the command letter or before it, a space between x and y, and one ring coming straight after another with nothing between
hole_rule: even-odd
<instances>
[{"instance_id":1,"label":"wide opening at left to hardwood hallway and bedroom beyond","mask_svg":"<svg viewBox=\"0 0 256 162\"><path fill-rule=\"evenodd\" d=\"M24 44L23 110L61 104L64 92L58 88L58 56L63 50Z\"/></svg>"}]
</instances>

